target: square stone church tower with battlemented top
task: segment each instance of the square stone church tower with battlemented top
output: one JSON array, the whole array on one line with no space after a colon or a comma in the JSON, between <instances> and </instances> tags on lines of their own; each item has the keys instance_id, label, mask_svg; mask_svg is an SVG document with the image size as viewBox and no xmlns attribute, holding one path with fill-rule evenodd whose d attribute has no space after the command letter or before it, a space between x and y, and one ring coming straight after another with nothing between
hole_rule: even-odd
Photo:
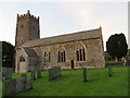
<instances>
[{"instance_id":1,"label":"square stone church tower with battlemented top","mask_svg":"<svg viewBox=\"0 0 130 98\"><path fill-rule=\"evenodd\" d=\"M39 16L30 14L29 10L24 15L17 14L15 47L17 48L27 40L40 38Z\"/></svg>"}]
</instances>

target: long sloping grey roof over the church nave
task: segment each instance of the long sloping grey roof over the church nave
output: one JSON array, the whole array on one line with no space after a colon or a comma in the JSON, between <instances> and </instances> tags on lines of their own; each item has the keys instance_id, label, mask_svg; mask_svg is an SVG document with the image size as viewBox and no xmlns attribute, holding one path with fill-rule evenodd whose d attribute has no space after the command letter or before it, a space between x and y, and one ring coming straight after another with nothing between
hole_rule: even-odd
<instances>
[{"instance_id":1,"label":"long sloping grey roof over the church nave","mask_svg":"<svg viewBox=\"0 0 130 98\"><path fill-rule=\"evenodd\" d=\"M63 44L68 41L77 41L77 40L84 40L84 39L91 39L91 38L101 38L101 36L102 36L102 30L100 27L96 29L83 30L83 32L78 32L78 33L73 33L67 35L60 35L60 36L28 40L24 42L22 46L20 46L20 48L48 46L48 45Z\"/></svg>"}]
</instances>

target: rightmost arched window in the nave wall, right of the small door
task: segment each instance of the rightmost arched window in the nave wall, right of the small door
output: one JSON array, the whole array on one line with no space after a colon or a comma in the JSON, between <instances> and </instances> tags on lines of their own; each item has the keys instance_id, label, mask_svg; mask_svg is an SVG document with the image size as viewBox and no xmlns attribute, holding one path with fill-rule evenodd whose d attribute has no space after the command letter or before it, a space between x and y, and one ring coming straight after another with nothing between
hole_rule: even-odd
<instances>
[{"instance_id":1,"label":"rightmost arched window in the nave wall, right of the small door","mask_svg":"<svg viewBox=\"0 0 130 98\"><path fill-rule=\"evenodd\" d=\"M77 49L76 50L77 61L86 61L86 51L84 49Z\"/></svg>"}]
</instances>

